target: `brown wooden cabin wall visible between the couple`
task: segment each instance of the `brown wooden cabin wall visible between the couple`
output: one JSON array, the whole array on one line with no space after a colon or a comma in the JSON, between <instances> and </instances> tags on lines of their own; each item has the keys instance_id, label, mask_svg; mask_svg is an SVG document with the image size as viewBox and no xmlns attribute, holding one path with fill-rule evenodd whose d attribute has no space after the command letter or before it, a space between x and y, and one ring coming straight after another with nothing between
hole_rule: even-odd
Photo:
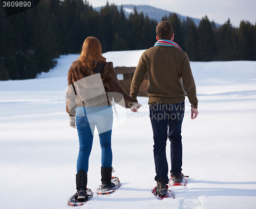
<instances>
[{"instance_id":1,"label":"brown wooden cabin wall visible between the couple","mask_svg":"<svg viewBox=\"0 0 256 209\"><path fill-rule=\"evenodd\" d=\"M116 71L117 79L120 82L121 86L126 91L126 93L130 95L131 83L133 80L133 75L136 67L115 67L114 69ZM146 74L145 79L141 85L140 96L147 96L146 95L147 85L148 85L148 77Z\"/></svg>"}]
</instances>

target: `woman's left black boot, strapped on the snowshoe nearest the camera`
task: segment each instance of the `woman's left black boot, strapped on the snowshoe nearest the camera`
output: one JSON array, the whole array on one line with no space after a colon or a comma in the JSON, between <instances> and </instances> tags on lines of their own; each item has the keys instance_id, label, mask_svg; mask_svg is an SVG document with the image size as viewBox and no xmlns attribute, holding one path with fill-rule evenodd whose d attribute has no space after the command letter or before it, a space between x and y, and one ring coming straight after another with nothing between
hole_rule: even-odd
<instances>
[{"instance_id":1,"label":"woman's left black boot, strapped on the snowshoe nearest the camera","mask_svg":"<svg viewBox=\"0 0 256 209\"><path fill-rule=\"evenodd\" d=\"M79 170L76 174L76 199L78 202L84 202L88 200L87 195L87 173L84 170Z\"/></svg>"}]
</instances>

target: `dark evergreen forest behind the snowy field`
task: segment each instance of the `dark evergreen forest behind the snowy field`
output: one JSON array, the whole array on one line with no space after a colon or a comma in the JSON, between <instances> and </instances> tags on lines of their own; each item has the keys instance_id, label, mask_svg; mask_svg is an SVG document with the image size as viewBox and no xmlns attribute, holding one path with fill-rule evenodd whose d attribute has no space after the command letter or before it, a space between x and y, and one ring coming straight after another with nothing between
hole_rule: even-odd
<instances>
[{"instance_id":1,"label":"dark evergreen forest behind the snowy field","mask_svg":"<svg viewBox=\"0 0 256 209\"><path fill-rule=\"evenodd\" d=\"M256 60L256 24L243 20L239 28L228 19L216 27L208 17L199 26L176 13L175 42L190 61ZM156 42L158 22L134 12L126 18L114 4L98 12L83 0L45 0L33 9L6 17L0 6L0 80L34 79L56 65L59 55L80 53L84 39L95 36L106 51L147 49Z\"/></svg>"}]
</instances>

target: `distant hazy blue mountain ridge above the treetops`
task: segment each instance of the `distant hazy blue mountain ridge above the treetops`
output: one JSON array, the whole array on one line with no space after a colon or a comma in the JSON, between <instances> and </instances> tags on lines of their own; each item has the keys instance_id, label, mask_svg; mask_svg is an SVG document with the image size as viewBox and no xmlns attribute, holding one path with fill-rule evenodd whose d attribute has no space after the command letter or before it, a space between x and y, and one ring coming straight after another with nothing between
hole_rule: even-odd
<instances>
[{"instance_id":1,"label":"distant hazy blue mountain ridge above the treetops","mask_svg":"<svg viewBox=\"0 0 256 209\"><path fill-rule=\"evenodd\" d=\"M170 12L170 11L167 11L167 10L162 10L162 9L158 9L156 7L152 7L152 6L148 6L148 5L122 5L123 6L123 11L124 11L124 14L125 16L128 18L129 15L131 14L131 12L133 12L134 10L134 7L136 7L138 13L141 13L143 12L144 15L147 14L147 16L150 18L150 19L156 19L158 22L162 20L162 17L164 17L165 15L168 17L170 13L174 13L174 12ZM101 7L96 7L94 8L96 11L100 11L100 8ZM121 9L121 6L117 6L118 10L120 11ZM178 13L176 13L181 21L186 20L186 18L188 16L183 16L183 15L180 15ZM193 21L195 22L195 24L198 26L199 25L199 22L201 21L201 19L198 19L198 18L194 18L194 17L189 17L191 19L193 19Z\"/></svg>"}]
</instances>

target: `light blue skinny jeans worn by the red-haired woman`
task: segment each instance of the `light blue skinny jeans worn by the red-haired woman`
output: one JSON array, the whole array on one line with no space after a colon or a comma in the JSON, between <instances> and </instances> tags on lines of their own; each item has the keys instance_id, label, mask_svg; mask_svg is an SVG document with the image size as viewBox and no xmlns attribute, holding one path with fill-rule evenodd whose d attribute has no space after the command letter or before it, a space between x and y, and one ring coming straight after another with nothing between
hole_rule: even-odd
<instances>
[{"instance_id":1,"label":"light blue skinny jeans worn by the red-haired woman","mask_svg":"<svg viewBox=\"0 0 256 209\"><path fill-rule=\"evenodd\" d=\"M112 125L113 115L84 114L84 116L76 116L76 127L79 138L77 173L79 170L85 170L86 173L88 173L89 156L92 150L95 126L97 127L99 133L101 147L101 166L103 168L112 167Z\"/></svg>"}]
</instances>

